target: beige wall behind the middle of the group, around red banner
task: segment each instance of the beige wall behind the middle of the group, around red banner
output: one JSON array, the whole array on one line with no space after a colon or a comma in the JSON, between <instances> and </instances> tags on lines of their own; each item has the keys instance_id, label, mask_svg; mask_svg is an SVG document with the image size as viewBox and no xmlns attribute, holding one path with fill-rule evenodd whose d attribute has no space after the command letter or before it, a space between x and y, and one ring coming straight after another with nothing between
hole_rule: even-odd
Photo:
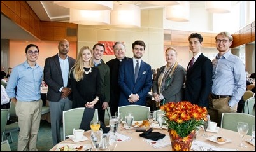
<instances>
[{"instance_id":1,"label":"beige wall behind the middle of the group, around red banner","mask_svg":"<svg viewBox=\"0 0 256 152\"><path fill-rule=\"evenodd\" d=\"M110 26L78 25L78 50L82 46L92 47L97 41L123 41L126 45L126 56L132 57L132 43L142 40L146 44L143 60L157 68L165 64L163 60L164 29L162 9L141 10L141 27L122 29ZM106 62L115 55L104 55Z\"/></svg>"}]
</instances>

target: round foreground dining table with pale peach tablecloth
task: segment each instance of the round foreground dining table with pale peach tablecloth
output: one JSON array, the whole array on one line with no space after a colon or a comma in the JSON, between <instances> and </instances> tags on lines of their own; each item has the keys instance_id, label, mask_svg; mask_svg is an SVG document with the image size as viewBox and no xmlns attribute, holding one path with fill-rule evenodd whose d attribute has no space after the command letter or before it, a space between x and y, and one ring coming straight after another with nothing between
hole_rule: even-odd
<instances>
[{"instance_id":1,"label":"round foreground dining table with pale peach tablecloth","mask_svg":"<svg viewBox=\"0 0 256 152\"><path fill-rule=\"evenodd\" d=\"M153 128L153 132L160 132L162 134L166 134L166 137L169 137L169 132L166 129L160 130L160 128ZM148 142L145 141L145 138L140 137L139 134L141 134L141 132L136 132L135 129L131 129L131 132L128 132L126 128L119 127L118 133L125 135L126 137L131 137L131 139L127 141L117 142L117 147L114 149L114 151L172 151L171 145L165 146L162 148L154 148L152 145L148 144ZM87 132L84 132L84 135L88 138L87 141L74 142L73 140L68 138L60 142L59 144L62 144L62 145L63 144L91 144L92 142L90 141L90 130ZM206 131L206 135L208 137L211 137L211 136L224 137L225 139L228 139L229 142L225 142L224 144L213 142L207 139L206 137L203 137L202 135L197 135L194 141L195 142L201 141L203 143L210 144L217 148L236 149L237 151L255 151L255 144L253 146L253 143L250 140L252 139L252 136L250 135L245 135L244 137L245 145L248 146L247 148L241 148L238 146L241 143L241 136L238 134L238 132L234 132L232 130L219 128L218 132ZM57 145L53 146L53 148L50 149L49 151L56 151L56 149L57 149ZM95 149L92 148L92 151L95 151ZM194 151L194 150L191 149L191 151Z\"/></svg>"}]
</instances>

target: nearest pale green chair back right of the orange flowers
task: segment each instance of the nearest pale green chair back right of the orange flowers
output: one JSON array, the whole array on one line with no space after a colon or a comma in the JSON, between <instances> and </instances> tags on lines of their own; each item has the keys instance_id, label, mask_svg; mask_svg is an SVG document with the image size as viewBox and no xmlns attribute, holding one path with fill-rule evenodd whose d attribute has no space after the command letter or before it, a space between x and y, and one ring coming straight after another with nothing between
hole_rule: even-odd
<instances>
[{"instance_id":1,"label":"nearest pale green chair back right of the orange flowers","mask_svg":"<svg viewBox=\"0 0 256 152\"><path fill-rule=\"evenodd\" d=\"M252 125L255 124L255 116L246 113L222 113L222 121L220 128L225 128L238 132L238 122L245 122L249 124L248 135L251 135Z\"/></svg>"}]
</instances>

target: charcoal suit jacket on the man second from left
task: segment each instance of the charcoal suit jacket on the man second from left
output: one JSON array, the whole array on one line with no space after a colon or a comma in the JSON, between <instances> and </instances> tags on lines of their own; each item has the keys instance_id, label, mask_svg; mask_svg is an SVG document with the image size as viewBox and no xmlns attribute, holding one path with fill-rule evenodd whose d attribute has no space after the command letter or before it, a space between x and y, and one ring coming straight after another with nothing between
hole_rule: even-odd
<instances>
[{"instance_id":1,"label":"charcoal suit jacket on the man second from left","mask_svg":"<svg viewBox=\"0 0 256 152\"><path fill-rule=\"evenodd\" d=\"M72 57L68 57L69 71L75 64L75 61ZM62 94L62 92L59 92L59 89L63 86L63 79L58 54L45 59L43 74L45 83L48 85L46 99L55 102L59 101ZM67 87L71 88L69 78ZM69 99L72 100L71 95L69 95Z\"/></svg>"}]
</instances>

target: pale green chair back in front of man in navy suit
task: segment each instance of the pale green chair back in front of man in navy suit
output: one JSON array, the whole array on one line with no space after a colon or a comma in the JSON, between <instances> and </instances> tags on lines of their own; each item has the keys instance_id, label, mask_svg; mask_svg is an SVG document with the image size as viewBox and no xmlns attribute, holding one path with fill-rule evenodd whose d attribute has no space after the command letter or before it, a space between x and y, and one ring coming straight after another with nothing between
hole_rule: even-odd
<instances>
[{"instance_id":1,"label":"pale green chair back in front of man in navy suit","mask_svg":"<svg viewBox=\"0 0 256 152\"><path fill-rule=\"evenodd\" d=\"M127 113L128 111L132 111L133 112L133 116L134 116L134 121L141 121L141 120L148 120L148 111L150 111L150 107L146 107L146 106L141 106L141 105L127 105L127 106L122 106L122 107L118 107L118 113L122 112ZM123 118L123 120L125 120Z\"/></svg>"}]
</instances>

